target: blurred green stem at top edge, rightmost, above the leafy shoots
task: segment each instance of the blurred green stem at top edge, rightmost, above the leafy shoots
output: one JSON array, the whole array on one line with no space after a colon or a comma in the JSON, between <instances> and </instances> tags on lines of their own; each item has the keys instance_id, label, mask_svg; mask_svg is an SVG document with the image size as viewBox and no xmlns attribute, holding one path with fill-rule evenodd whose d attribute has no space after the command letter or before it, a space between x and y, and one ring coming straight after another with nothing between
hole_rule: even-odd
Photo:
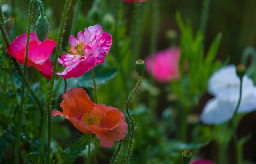
<instances>
[{"instance_id":1,"label":"blurred green stem at top edge, rightmost, above the leafy shoots","mask_svg":"<svg viewBox=\"0 0 256 164\"><path fill-rule=\"evenodd\" d=\"M200 22L200 30L202 31L202 34L204 36L205 36L205 32L206 32L209 6L210 6L210 0L204 0L203 8L202 8L202 15L201 15L201 22Z\"/></svg>"}]
</instances>

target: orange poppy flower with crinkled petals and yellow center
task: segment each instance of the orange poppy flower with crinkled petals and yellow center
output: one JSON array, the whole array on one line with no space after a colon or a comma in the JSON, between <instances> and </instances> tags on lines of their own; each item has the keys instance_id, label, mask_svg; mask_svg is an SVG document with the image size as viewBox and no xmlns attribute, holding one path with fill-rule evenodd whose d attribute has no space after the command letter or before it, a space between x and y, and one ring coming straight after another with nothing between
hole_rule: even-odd
<instances>
[{"instance_id":1,"label":"orange poppy flower with crinkled petals and yellow center","mask_svg":"<svg viewBox=\"0 0 256 164\"><path fill-rule=\"evenodd\" d=\"M71 88L63 99L63 113L53 110L52 117L64 116L81 132L96 134L102 147L110 148L114 141L124 139L128 125L117 108L93 103L82 88Z\"/></svg>"}]
</instances>

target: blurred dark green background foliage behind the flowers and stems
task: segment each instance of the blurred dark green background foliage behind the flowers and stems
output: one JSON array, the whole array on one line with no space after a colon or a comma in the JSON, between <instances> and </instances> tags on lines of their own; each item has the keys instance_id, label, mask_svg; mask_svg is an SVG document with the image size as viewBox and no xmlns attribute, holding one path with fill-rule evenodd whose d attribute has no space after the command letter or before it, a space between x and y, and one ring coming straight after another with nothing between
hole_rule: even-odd
<instances>
[{"instance_id":1,"label":"blurred dark green background foliage behind the flowers and stems","mask_svg":"<svg viewBox=\"0 0 256 164\"><path fill-rule=\"evenodd\" d=\"M60 56L62 53L68 52L70 47L68 40L76 0L72 1L67 16ZM50 33L49 39L57 41L64 0L42 0L42 2L51 25L52 32ZM125 101L138 78L138 74L134 69L134 62L140 58L145 59L150 53L152 5L154 5L154 1L147 1L140 4L138 34L132 41L129 40L129 35L134 18L134 4L121 2L121 14L118 15L118 28L116 30L114 27L117 22L115 19L116 2L116 0L82 0L76 30L73 35L76 37L76 34L79 31L83 32L85 27L100 24L104 31L113 36L112 48L106 56L105 64L101 64L94 69L96 83L98 84L98 102L104 103L107 106L118 107L120 111L124 112ZM197 74L189 72L188 76L186 76L183 70L183 72L181 71L180 80L178 82L171 82L171 85L159 82L152 83L150 75L148 73L144 74L141 92L135 96L131 104L131 113L134 115L137 124L136 140L133 144L134 150L131 156L131 163L180 163L181 153L186 149L193 150L193 158L209 158L216 163L222 162L222 158L224 158L225 161L228 161L226 163L232 164L234 162L232 158L234 156L234 150L232 144L229 143L231 137L229 135L223 136L224 134L221 133L226 125L214 127L202 125L198 122L198 115L202 111L206 101L212 97L206 93L207 80L210 75L222 63L240 64L243 50L247 46L256 46L256 1L210 1L205 38L198 31L202 13L202 2L203 0L159 0L160 16L158 20L156 50L169 47L170 43L165 36L166 31L168 29L176 30L178 32L178 44L181 49L184 50L184 45L186 44L190 46L188 51L182 51L180 63L184 61L191 62L192 64L189 64L188 68L194 70ZM4 6L6 7L6 13L9 13L10 16L15 18L14 29L10 31L9 35L10 42L12 42L16 36L27 32L29 0L4 0L2 4L4 4L2 6L3 8ZM35 18L38 17L38 12L37 8L34 7L34 19L32 20L34 23L36 21ZM182 28L183 30L181 30ZM191 31L192 33L190 33ZM115 32L117 32L116 38ZM115 41L118 42L115 43ZM132 49L127 49L129 44L132 45ZM211 46L214 48L211 48ZM116 51L118 51L119 55ZM1 53L4 54L4 50L1 50ZM51 56L52 59L53 56ZM8 66L6 60L3 62L3 65ZM57 72L60 72L62 69L62 66L58 64ZM32 68L28 68L28 72L30 72L28 73L28 79L30 79ZM1 73L1 76L4 76L4 74ZM20 76L14 73L14 78L16 86L21 86ZM9 83L7 85L9 85L10 89ZM61 77L57 76L54 87L53 109L62 110L59 107L64 90L64 82L61 80ZM79 78L68 79L68 89L72 87L84 88L90 98L93 99L93 83L90 72ZM37 93L42 106L44 106L48 91L48 81L42 78L38 72L36 72L32 90ZM21 89L18 88L17 94L20 95L20 92ZM175 93L174 97L172 93ZM8 124L11 124L5 120L10 121L12 118L13 122L15 122L15 112L11 118L6 114L9 112L6 111L8 107L11 107L14 111L16 109L13 103L9 101L13 99L14 96L11 91L2 94L0 97L0 104L6 105L1 110L1 134L9 128ZM26 121L24 121L24 124L27 126L24 127L22 140L22 146L25 147L23 158L28 158L30 162L34 161L36 163L34 158L38 148L40 148L38 146L40 144L38 143L40 143L41 139L38 137L40 136L40 130L34 128L34 126L38 128L41 126L42 111L40 107L35 107L36 102L33 96L29 94L28 99L25 113ZM151 106L152 103L154 103L153 106ZM6 113L3 114L3 111ZM194 115L191 115L191 113ZM238 138L251 133L251 137L246 139L249 142L244 145L244 160L250 162L256 162L256 157L253 153L254 149L252 149L252 147L256 146L253 140L256 135L255 115L255 112L246 115L238 127ZM192 121L189 118L192 118ZM196 120L195 122L193 122L193 118ZM65 153L78 149L82 142L82 149L77 151L80 152L84 149L85 151L82 151L82 155L78 156L76 160L75 157L77 154L71 155L73 158L70 158L69 162L75 161L75 163L81 163L84 161L84 158L86 158L86 142L83 142L84 138L78 140L83 133L78 131L65 118L57 116L52 119L52 122L53 159L60 163L65 163L61 157L66 156ZM128 120L126 122L128 123ZM15 136L15 134L12 134L12 132L11 128L9 128L8 133L2 135L1 139L4 139L2 141L6 141L6 143L2 144L2 152L0 149L0 154L11 150L10 146L6 145L13 141L12 136ZM227 132L227 134L230 133ZM128 138L127 135L123 141L124 143L117 163L124 161ZM75 143L68 145L67 143L69 141ZM98 142L93 144L96 145L98 163L107 163L110 161L117 147L117 142L110 149L101 148ZM225 157L226 154L224 152L219 151L223 145L228 146L227 157ZM58 146L62 148L58 148ZM65 148L66 150L64 150ZM94 146L92 146L92 150L94 150ZM223 154L221 155L220 153ZM11 163L12 155L13 152L4 154L4 161Z\"/></svg>"}]
</instances>

